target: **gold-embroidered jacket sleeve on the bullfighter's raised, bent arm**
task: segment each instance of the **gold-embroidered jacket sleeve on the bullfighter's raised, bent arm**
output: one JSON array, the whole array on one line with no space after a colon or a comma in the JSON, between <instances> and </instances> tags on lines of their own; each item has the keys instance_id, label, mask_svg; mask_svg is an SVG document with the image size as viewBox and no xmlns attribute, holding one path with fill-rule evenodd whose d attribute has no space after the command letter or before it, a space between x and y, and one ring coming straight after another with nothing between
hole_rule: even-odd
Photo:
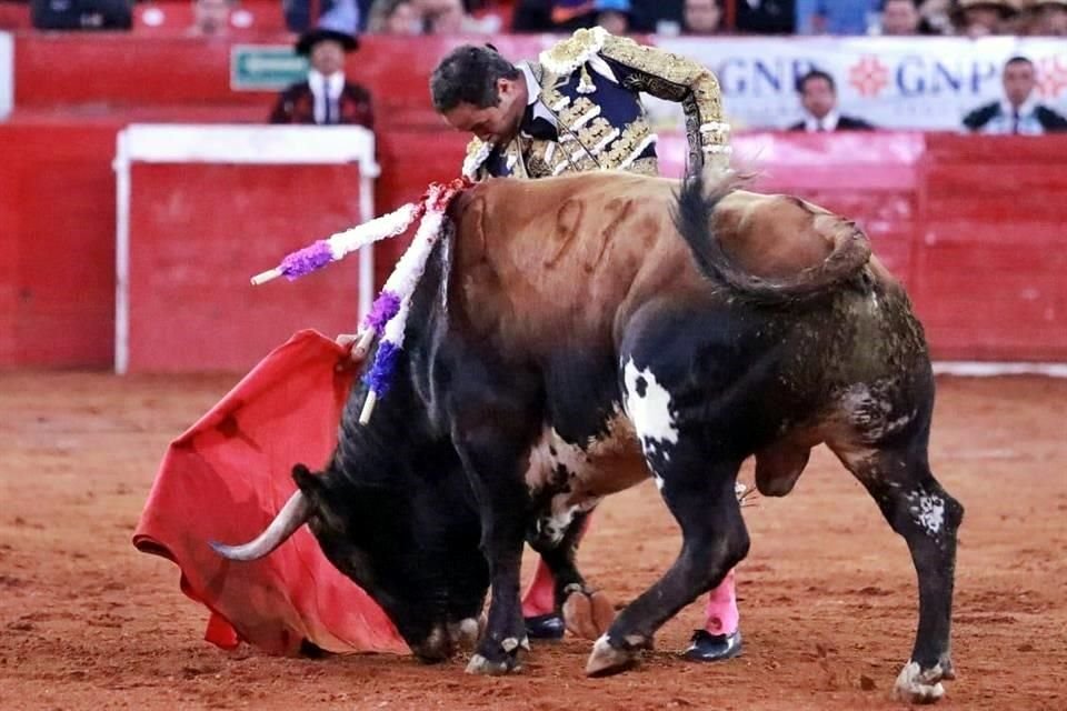
<instances>
[{"instance_id":1,"label":"gold-embroidered jacket sleeve on the bullfighter's raised, bent arm","mask_svg":"<svg viewBox=\"0 0 1067 711\"><path fill-rule=\"evenodd\" d=\"M722 118L719 81L710 70L685 57L655 47L644 47L622 37L609 36L600 53L635 70L625 80L627 89L681 103L686 113L691 169L699 170L706 156L715 164L725 166L729 162L726 151L704 150L711 146L726 146L729 141L729 129L725 127ZM722 123L724 128L700 131L701 126L712 122Z\"/></svg>"}]
</instances>

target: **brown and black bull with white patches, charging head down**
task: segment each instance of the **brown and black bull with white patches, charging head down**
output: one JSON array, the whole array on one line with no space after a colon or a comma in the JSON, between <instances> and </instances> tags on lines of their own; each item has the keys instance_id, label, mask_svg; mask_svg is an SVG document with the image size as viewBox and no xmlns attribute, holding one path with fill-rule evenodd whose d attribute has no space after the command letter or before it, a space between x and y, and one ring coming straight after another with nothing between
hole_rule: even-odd
<instances>
[{"instance_id":1,"label":"brown and black bull with white patches, charging head down","mask_svg":"<svg viewBox=\"0 0 1067 711\"><path fill-rule=\"evenodd\" d=\"M275 523L223 554L266 554L308 522L428 659L451 652L449 630L473 629L488 583L468 671L502 673L528 649L523 540L558 597L586 591L572 557L582 517L651 477L684 543L594 644L587 673L611 674L745 558L741 463L755 457L757 488L781 497L825 443L918 575L896 692L944 693L964 509L929 467L923 328L855 223L736 179L624 173L491 180L452 217L395 390L363 430L356 395L326 470L298 467Z\"/></svg>"}]
</instances>

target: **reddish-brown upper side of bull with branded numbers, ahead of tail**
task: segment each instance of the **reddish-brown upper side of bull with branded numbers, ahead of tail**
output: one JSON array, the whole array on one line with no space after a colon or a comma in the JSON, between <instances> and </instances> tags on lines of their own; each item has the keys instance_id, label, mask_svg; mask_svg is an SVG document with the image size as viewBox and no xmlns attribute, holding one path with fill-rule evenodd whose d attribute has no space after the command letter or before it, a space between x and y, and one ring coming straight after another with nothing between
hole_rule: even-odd
<instances>
[{"instance_id":1,"label":"reddish-brown upper side of bull with branded numbers, ahead of tail","mask_svg":"<svg viewBox=\"0 0 1067 711\"><path fill-rule=\"evenodd\" d=\"M621 172L479 184L458 214L453 294L510 347L600 343L635 297L701 288L671 221L677 188Z\"/></svg>"}]
</instances>

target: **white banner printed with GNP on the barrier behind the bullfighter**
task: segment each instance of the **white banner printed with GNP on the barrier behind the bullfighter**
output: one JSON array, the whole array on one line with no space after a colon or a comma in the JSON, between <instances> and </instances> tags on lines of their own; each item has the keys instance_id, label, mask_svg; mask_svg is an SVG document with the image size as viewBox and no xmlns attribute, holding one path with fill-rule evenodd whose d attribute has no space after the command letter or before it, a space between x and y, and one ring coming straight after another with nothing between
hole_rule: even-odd
<instances>
[{"instance_id":1,"label":"white banner printed with GNP on the barrier behind the bullfighter","mask_svg":"<svg viewBox=\"0 0 1067 711\"><path fill-rule=\"evenodd\" d=\"M966 38L657 38L715 70L736 127L787 128L801 119L796 81L829 72L840 110L879 128L960 130L973 109L1003 96L1004 62L1020 54L1038 72L1037 99L1067 113L1067 42ZM668 104L669 106L669 104ZM656 102L654 117L672 111Z\"/></svg>"}]
</instances>

